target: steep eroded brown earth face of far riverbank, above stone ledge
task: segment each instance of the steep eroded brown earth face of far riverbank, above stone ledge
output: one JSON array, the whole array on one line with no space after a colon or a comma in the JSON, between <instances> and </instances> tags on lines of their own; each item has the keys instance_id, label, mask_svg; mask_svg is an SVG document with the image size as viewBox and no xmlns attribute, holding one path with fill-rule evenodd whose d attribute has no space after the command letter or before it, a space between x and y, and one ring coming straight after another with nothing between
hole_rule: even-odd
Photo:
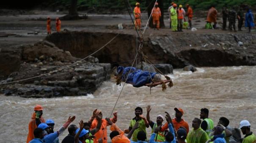
<instances>
[{"instance_id":1,"label":"steep eroded brown earth face of far riverbank, above stone ledge","mask_svg":"<svg viewBox=\"0 0 256 143\"><path fill-rule=\"evenodd\" d=\"M96 51L116 33L60 32L46 37L74 57L85 57ZM238 45L238 42L240 45ZM150 35L143 40L143 52L153 63L168 63L173 67L256 65L256 35L175 33ZM135 57L136 36L118 37L94 56L100 62L127 65Z\"/></svg>"}]
</instances>

